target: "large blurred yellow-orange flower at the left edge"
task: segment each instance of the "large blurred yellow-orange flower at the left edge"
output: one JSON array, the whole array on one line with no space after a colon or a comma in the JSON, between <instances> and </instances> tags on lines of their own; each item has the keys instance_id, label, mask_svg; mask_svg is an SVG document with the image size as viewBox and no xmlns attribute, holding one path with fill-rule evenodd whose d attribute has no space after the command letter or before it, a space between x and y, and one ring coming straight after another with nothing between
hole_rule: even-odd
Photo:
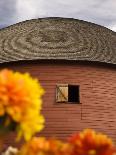
<instances>
[{"instance_id":1,"label":"large blurred yellow-orange flower at the left edge","mask_svg":"<svg viewBox=\"0 0 116 155\"><path fill-rule=\"evenodd\" d=\"M36 79L4 69L0 71L0 131L17 131L29 140L43 129L44 118L40 114L41 96L44 91Z\"/></svg>"}]
</instances>

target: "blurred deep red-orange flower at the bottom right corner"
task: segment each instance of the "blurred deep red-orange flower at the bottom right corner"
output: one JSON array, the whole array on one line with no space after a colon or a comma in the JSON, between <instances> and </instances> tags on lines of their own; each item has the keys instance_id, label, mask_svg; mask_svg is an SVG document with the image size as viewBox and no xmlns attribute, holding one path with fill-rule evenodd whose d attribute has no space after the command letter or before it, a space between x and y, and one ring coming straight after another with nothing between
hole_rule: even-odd
<instances>
[{"instance_id":1,"label":"blurred deep red-orange flower at the bottom right corner","mask_svg":"<svg viewBox=\"0 0 116 155\"><path fill-rule=\"evenodd\" d=\"M69 142L73 145L72 155L113 155L114 152L116 153L111 139L91 129L73 135Z\"/></svg>"}]
</instances>

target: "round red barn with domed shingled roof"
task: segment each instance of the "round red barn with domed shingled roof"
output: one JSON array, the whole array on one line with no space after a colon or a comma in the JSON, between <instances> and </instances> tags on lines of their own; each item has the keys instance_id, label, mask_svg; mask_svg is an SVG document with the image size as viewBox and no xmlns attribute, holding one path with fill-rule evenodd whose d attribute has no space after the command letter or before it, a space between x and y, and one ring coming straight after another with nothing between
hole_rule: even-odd
<instances>
[{"instance_id":1,"label":"round red barn with domed shingled roof","mask_svg":"<svg viewBox=\"0 0 116 155\"><path fill-rule=\"evenodd\" d=\"M21 22L0 30L3 68L29 72L45 89L39 135L65 139L92 128L116 139L115 32L67 18Z\"/></svg>"}]
</instances>

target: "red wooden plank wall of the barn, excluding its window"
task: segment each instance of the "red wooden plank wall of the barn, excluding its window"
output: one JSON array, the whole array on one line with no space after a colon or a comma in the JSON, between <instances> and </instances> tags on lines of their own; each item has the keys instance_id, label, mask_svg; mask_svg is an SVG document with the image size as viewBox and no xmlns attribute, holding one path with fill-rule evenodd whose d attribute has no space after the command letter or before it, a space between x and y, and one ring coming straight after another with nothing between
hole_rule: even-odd
<instances>
[{"instance_id":1,"label":"red wooden plank wall of the barn, excluding its window","mask_svg":"<svg viewBox=\"0 0 116 155\"><path fill-rule=\"evenodd\" d=\"M46 123L39 135L65 139L76 131L92 128L116 139L116 68L94 63L18 62L0 68L30 72L46 93L43 110ZM57 84L80 85L81 104L56 103ZM6 143L11 143L7 138Z\"/></svg>"}]
</instances>

